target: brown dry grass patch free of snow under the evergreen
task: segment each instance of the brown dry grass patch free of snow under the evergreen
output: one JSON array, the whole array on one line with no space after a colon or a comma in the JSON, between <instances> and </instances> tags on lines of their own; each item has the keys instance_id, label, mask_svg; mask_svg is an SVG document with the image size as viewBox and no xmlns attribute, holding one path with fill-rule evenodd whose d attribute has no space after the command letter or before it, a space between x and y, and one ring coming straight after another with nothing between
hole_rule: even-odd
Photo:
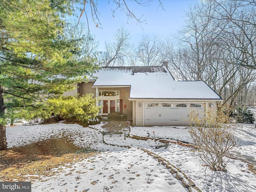
<instances>
[{"instance_id":1,"label":"brown dry grass patch free of snow under the evergreen","mask_svg":"<svg viewBox=\"0 0 256 192\"><path fill-rule=\"evenodd\" d=\"M25 181L54 175L52 168L79 162L96 153L75 146L68 136L0 152L0 181ZM30 176L29 176L30 175Z\"/></svg>"}]
</instances>

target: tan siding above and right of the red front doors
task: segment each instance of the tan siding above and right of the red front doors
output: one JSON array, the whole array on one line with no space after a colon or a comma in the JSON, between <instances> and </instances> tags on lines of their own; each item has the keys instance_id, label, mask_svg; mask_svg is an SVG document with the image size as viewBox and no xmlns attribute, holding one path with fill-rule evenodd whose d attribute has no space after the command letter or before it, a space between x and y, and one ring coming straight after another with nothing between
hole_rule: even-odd
<instances>
[{"instance_id":1,"label":"tan siding above and right of the red front doors","mask_svg":"<svg viewBox=\"0 0 256 192\"><path fill-rule=\"evenodd\" d=\"M130 88L129 87L117 87L117 88L98 88L99 91L120 91L120 99L123 100L123 113L127 114L128 120L132 120L132 101L129 101ZM126 108L124 108L126 105Z\"/></svg>"}]
</instances>

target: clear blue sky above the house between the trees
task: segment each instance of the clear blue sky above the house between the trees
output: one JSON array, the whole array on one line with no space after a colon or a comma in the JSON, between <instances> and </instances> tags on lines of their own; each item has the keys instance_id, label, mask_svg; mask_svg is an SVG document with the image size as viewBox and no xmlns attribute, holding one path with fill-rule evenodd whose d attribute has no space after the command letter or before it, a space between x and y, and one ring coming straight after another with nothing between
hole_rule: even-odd
<instances>
[{"instance_id":1,"label":"clear blue sky above the house between the trees","mask_svg":"<svg viewBox=\"0 0 256 192\"><path fill-rule=\"evenodd\" d=\"M96 28L92 22L91 15L88 14L90 32L96 35L99 41L99 51L104 48L105 42L112 42L113 35L117 29L122 25L125 29L130 31L131 43L135 46L140 41L142 34L152 34L162 38L174 36L178 33L180 28L184 25L185 11L188 6L193 4L195 0L162 0L165 10L159 7L159 1L153 0L149 2L149 6L139 6L132 0L126 0L130 10L142 20L145 19L141 25L133 18L124 14L120 9L116 10L113 17L112 9L116 6L112 0L98 0L98 12L100 14L100 22L102 28ZM89 4L87 6L87 13ZM87 22L85 16L82 16L82 22Z\"/></svg>"}]
</instances>

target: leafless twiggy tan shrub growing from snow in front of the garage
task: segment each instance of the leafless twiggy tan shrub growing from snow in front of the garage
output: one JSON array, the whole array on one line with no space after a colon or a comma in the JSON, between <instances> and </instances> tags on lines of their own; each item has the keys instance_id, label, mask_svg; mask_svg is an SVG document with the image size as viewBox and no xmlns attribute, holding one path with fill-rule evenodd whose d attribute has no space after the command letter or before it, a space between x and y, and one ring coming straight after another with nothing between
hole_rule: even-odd
<instances>
[{"instance_id":1,"label":"leafless twiggy tan shrub growing from snow in front of the garage","mask_svg":"<svg viewBox=\"0 0 256 192\"><path fill-rule=\"evenodd\" d=\"M194 127L189 130L190 136L197 146L200 159L213 171L226 172L228 160L224 155L228 154L236 146L237 140L228 122L228 116L223 112L212 115L206 111L199 117L198 112L191 112L190 123Z\"/></svg>"}]
</instances>

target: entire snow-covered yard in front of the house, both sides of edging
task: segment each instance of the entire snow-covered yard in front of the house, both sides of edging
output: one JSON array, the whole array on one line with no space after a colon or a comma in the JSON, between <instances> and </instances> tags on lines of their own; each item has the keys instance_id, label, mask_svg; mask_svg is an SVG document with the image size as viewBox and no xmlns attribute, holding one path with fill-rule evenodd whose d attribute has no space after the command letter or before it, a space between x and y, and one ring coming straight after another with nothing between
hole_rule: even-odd
<instances>
[{"instance_id":1,"label":"entire snow-covered yard in front of the house, both sides of edging","mask_svg":"<svg viewBox=\"0 0 256 192\"><path fill-rule=\"evenodd\" d=\"M153 140L125 138L124 134L106 134L104 135L106 143L104 143L101 125L91 126L95 129L63 123L7 128L8 148L68 136L78 147L101 151L90 158L74 159L72 163L56 167L50 170L55 172L51 176L36 175L40 180L36 179L32 182L32 192L188 191L182 186L180 180L176 179L176 174L171 174L165 166L138 147L152 151L168 160L184 172L203 192L256 192L256 175L250 172L247 164L240 160L230 159L227 173L212 172L208 167L203 166L192 148L177 144L163 145ZM248 158L252 161L256 161L256 128L254 126L238 124L234 127L239 140L236 154L240 158ZM156 138L191 142L188 129L185 127L133 127L130 135L154 137L155 133ZM120 146L133 147L128 149Z\"/></svg>"}]
</instances>

